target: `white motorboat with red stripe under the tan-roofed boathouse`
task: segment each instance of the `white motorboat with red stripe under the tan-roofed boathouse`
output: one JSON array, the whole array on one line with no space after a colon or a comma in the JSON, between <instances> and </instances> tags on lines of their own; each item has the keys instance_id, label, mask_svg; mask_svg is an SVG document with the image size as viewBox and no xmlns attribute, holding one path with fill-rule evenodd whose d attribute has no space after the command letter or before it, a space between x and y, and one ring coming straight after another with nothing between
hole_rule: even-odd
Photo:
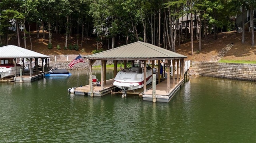
<instances>
[{"instance_id":1,"label":"white motorboat with red stripe under the tan-roofed boathouse","mask_svg":"<svg viewBox=\"0 0 256 143\"><path fill-rule=\"evenodd\" d=\"M152 68L146 68L146 84L152 82ZM142 88L144 86L144 68L142 67L131 67L123 69L116 74L114 83L118 88L122 89L122 96L126 96L127 90L134 90Z\"/></svg>"}]
</instances>

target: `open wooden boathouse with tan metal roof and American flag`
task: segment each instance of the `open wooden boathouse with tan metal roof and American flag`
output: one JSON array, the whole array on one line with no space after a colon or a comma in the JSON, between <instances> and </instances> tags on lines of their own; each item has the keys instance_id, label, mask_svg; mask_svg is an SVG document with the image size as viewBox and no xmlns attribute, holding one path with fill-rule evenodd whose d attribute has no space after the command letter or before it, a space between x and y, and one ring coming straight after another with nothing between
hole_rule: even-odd
<instances>
[{"instance_id":1,"label":"open wooden boathouse with tan metal roof and American flag","mask_svg":"<svg viewBox=\"0 0 256 143\"><path fill-rule=\"evenodd\" d=\"M158 74L153 74L153 80L157 79L158 84L156 85L156 81L153 81L152 87L147 88L146 82L144 82L143 91L140 94L143 100L169 102L176 90L184 82L184 58L186 58L186 56L142 41L88 55L85 56L84 59L90 61L90 84L76 88L75 92L88 92L90 96L102 96L110 93L111 89L115 87L112 84L114 79L106 80L106 62L108 60L114 61L114 75L118 72L118 61L124 61L124 68L126 68L127 61L142 61L144 63L144 71L146 71L147 61L152 63L152 68L154 68L154 63L157 61L159 63L158 69L160 69L160 63L164 63L167 68L166 73L171 74L166 74L166 78L161 78L160 70L158 70ZM95 84L93 86L92 82L92 65L96 60L101 60L102 66L100 87L95 86ZM172 71L170 71L170 67L175 67L175 65L176 68L172 68ZM156 75L158 77L156 77ZM146 79L146 72L144 72L144 79Z\"/></svg>"}]
</instances>

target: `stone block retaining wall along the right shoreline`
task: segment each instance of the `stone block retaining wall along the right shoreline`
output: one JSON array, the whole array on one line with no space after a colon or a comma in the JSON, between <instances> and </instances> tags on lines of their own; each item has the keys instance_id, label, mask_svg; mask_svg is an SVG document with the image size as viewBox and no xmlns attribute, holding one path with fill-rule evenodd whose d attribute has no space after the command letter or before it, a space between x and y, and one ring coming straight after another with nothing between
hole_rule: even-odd
<instances>
[{"instance_id":1,"label":"stone block retaining wall along the right shoreline","mask_svg":"<svg viewBox=\"0 0 256 143\"><path fill-rule=\"evenodd\" d=\"M256 64L192 62L191 69L202 76L256 81Z\"/></svg>"}]
</instances>

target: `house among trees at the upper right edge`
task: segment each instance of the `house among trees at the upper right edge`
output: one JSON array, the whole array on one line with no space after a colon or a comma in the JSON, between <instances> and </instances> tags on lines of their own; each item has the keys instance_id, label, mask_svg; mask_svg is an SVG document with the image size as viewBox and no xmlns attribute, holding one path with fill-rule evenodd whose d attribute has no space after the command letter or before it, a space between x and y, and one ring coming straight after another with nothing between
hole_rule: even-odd
<instances>
[{"instance_id":1,"label":"house among trees at the upper right edge","mask_svg":"<svg viewBox=\"0 0 256 143\"><path fill-rule=\"evenodd\" d=\"M240 8L240 14L236 16L235 26L238 33L242 32L242 7ZM246 9L244 12L244 30L250 31L250 20L251 20L251 10ZM256 9L253 10L253 27L256 30Z\"/></svg>"}]
</instances>

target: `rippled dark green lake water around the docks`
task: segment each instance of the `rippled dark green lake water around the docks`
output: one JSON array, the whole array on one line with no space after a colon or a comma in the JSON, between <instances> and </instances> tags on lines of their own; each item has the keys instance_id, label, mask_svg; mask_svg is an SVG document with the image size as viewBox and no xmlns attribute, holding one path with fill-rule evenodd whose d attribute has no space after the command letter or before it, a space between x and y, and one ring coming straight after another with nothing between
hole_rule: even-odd
<instances>
[{"instance_id":1,"label":"rippled dark green lake water around the docks","mask_svg":"<svg viewBox=\"0 0 256 143\"><path fill-rule=\"evenodd\" d=\"M100 79L100 69L93 70ZM169 103L118 94L70 96L88 71L0 84L0 141L18 143L256 142L256 82L198 77ZM107 70L109 78L113 71Z\"/></svg>"}]
</instances>

